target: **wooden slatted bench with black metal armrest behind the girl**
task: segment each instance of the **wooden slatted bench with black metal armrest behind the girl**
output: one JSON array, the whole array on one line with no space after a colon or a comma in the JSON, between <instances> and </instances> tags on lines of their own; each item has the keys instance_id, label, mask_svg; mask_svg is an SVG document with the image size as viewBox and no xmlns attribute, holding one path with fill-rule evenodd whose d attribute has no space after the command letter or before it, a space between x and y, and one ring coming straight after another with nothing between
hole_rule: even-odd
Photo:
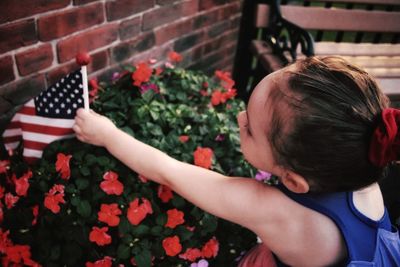
<instances>
[{"instance_id":1,"label":"wooden slatted bench with black metal armrest behind the girl","mask_svg":"<svg viewBox=\"0 0 400 267\"><path fill-rule=\"evenodd\" d=\"M251 43L240 37L233 72L241 97L297 58L338 55L372 74L392 101L400 100L400 0L248 2L247 15L255 14L245 37Z\"/></svg>"}]
</instances>

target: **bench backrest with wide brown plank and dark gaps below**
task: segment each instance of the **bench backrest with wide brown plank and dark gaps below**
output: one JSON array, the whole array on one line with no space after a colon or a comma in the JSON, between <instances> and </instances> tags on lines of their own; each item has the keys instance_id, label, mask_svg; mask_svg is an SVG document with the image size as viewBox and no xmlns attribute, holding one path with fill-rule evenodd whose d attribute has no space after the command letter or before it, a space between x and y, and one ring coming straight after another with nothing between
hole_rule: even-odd
<instances>
[{"instance_id":1,"label":"bench backrest with wide brown plank and dark gaps below","mask_svg":"<svg viewBox=\"0 0 400 267\"><path fill-rule=\"evenodd\" d=\"M276 14L271 16L272 13L278 13L278 17ZM277 1L275 6L259 4L256 27L267 28L276 24L280 19L279 13L285 20L311 30L314 41L325 37L336 42L400 42L400 0L308 0ZM328 34L324 36L324 32ZM344 38L343 32L350 32L350 35Z\"/></svg>"}]
</instances>

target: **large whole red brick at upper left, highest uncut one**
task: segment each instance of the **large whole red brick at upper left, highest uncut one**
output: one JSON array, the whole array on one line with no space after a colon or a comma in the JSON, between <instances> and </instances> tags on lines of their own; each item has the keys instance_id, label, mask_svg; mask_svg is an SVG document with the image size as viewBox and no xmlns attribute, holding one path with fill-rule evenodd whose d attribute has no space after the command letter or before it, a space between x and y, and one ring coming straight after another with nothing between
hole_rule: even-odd
<instances>
[{"instance_id":1,"label":"large whole red brick at upper left, highest uncut one","mask_svg":"<svg viewBox=\"0 0 400 267\"><path fill-rule=\"evenodd\" d=\"M39 18L39 39L49 41L70 33L101 24L104 21L103 4L68 9Z\"/></svg>"}]
</instances>

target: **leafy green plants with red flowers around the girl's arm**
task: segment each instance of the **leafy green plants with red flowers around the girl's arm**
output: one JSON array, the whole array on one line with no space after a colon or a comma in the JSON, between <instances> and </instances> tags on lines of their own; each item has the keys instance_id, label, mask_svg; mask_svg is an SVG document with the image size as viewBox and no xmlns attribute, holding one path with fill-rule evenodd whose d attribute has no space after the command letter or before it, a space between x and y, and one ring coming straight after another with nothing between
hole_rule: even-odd
<instances>
[{"instance_id":1,"label":"leafy green plants with red flowers around the girl's arm","mask_svg":"<svg viewBox=\"0 0 400 267\"><path fill-rule=\"evenodd\" d=\"M169 58L90 81L92 108L176 159L253 177L229 73L210 78ZM34 166L18 151L0 161L0 222L3 266L232 266L256 241L77 139L50 144Z\"/></svg>"}]
</instances>

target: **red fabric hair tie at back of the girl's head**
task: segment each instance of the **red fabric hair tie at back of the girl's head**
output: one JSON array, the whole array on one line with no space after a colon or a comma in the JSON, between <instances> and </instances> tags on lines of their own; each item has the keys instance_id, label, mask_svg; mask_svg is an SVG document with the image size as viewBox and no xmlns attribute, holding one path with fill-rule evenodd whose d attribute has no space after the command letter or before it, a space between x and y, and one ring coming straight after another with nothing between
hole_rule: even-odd
<instances>
[{"instance_id":1,"label":"red fabric hair tie at back of the girl's head","mask_svg":"<svg viewBox=\"0 0 400 267\"><path fill-rule=\"evenodd\" d=\"M369 147L369 160L378 167L397 160L400 153L400 110L386 108Z\"/></svg>"}]
</instances>

